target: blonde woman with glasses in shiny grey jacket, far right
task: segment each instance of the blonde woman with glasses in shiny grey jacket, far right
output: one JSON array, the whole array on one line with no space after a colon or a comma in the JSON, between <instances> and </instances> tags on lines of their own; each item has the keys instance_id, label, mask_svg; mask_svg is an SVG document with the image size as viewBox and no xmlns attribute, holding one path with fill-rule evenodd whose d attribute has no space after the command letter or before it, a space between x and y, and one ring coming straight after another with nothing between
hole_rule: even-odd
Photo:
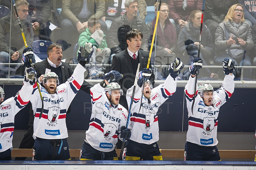
<instances>
[{"instance_id":1,"label":"blonde woman with glasses in shiny grey jacket, far right","mask_svg":"<svg viewBox=\"0 0 256 170\"><path fill-rule=\"evenodd\" d=\"M234 4L216 30L214 64L221 65L225 58L229 58L235 61L235 66L252 66L246 54L252 48L252 28L244 21L244 6ZM239 70L236 69L236 78L240 77ZM251 78L251 75L252 69L244 69L246 78Z\"/></svg>"}]
</instances>

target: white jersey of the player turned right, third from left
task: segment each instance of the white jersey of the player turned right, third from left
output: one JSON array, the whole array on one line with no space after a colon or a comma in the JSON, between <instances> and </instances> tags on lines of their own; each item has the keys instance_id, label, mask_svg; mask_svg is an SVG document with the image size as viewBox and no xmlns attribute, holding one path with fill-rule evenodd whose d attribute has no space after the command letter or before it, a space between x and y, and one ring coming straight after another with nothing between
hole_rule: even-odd
<instances>
[{"instance_id":1,"label":"white jersey of the player turned right, third from left","mask_svg":"<svg viewBox=\"0 0 256 170\"><path fill-rule=\"evenodd\" d=\"M91 88L91 100L92 115L86 141L98 151L113 151L121 127L126 125L128 111L121 104L110 104L100 83Z\"/></svg>"}]
</instances>

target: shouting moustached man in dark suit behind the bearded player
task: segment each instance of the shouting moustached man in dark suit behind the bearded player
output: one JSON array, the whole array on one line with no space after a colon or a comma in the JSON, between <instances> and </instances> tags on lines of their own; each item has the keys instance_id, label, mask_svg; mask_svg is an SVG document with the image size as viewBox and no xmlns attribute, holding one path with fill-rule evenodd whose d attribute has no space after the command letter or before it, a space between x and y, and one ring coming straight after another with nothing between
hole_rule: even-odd
<instances>
[{"instance_id":1,"label":"shouting moustached man in dark suit behind the bearded player","mask_svg":"<svg viewBox=\"0 0 256 170\"><path fill-rule=\"evenodd\" d=\"M65 62L62 62L62 49L59 44L51 44L47 49L47 59L44 61L34 64L34 68L37 73L38 82L42 83L43 76L45 73L54 72L59 77L59 84L65 83L68 78L73 74L72 67ZM84 81L80 89L90 94L90 89L92 85ZM31 104L30 104L31 105ZM70 107L68 108L67 113L70 112ZM34 113L32 107L29 110L29 122L28 122L28 131L24 135L19 149L31 149L34 146L34 138L32 137L34 133L33 124L34 124ZM15 158L16 160L24 160L26 158Z\"/></svg>"}]
</instances>

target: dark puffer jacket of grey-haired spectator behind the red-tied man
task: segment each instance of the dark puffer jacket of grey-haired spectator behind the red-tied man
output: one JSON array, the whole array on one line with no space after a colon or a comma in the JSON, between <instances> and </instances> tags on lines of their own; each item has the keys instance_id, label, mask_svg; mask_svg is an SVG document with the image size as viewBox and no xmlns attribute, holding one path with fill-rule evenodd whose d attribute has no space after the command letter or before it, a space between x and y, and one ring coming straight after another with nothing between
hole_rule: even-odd
<instances>
[{"instance_id":1,"label":"dark puffer jacket of grey-haired spectator behind the red-tied man","mask_svg":"<svg viewBox=\"0 0 256 170\"><path fill-rule=\"evenodd\" d=\"M125 35L128 32L127 31L128 27L124 27L123 25L128 25L132 29L138 29L140 32L142 32L143 39L142 39L141 48L145 51L148 51L147 50L148 31L147 31L147 26L146 26L145 21L143 19L135 16L132 19L132 22L130 23L126 17L126 12L124 15L116 18L111 24L110 31L109 31L109 43L108 43L109 48L111 48L111 49L113 49L113 48L115 49L116 47L120 48L119 43L122 48L124 47L124 44L126 45ZM120 28L119 35L122 35L121 38L118 38L118 35L117 35L119 28ZM121 42L118 42L117 40L121 40ZM120 48L119 50L121 50L122 48Z\"/></svg>"}]
</instances>

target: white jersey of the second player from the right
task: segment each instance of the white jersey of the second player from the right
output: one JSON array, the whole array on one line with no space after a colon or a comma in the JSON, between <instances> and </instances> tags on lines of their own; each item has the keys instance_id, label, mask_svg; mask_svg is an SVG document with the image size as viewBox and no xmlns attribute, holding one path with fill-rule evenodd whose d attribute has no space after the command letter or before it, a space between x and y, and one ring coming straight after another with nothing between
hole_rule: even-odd
<instances>
[{"instance_id":1,"label":"white jersey of the second player from the right","mask_svg":"<svg viewBox=\"0 0 256 170\"><path fill-rule=\"evenodd\" d=\"M176 91L177 78L175 81L168 75L164 84L151 90L150 99L143 95L140 101L142 88L136 86L136 91L131 108L131 127L132 135L130 140L151 144L159 140L159 127L157 111L159 107ZM133 87L127 90L126 99L128 107L131 104ZM141 109L140 109L141 103ZM139 112L140 110L140 112Z\"/></svg>"}]
</instances>

